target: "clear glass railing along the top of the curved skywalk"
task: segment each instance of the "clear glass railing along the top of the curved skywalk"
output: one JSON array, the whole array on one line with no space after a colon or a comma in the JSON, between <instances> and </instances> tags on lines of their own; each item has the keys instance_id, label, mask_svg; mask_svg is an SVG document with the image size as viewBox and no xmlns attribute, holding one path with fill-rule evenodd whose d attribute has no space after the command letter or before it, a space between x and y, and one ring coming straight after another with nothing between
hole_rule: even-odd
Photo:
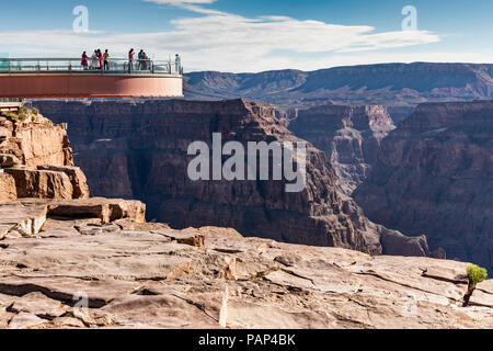
<instances>
[{"instance_id":1,"label":"clear glass railing along the top of the curved skywalk","mask_svg":"<svg viewBox=\"0 0 493 351\"><path fill-rule=\"evenodd\" d=\"M82 66L81 58L0 58L0 73L149 73L183 75L183 67L173 60L111 58L107 63L89 58Z\"/></svg>"}]
</instances>

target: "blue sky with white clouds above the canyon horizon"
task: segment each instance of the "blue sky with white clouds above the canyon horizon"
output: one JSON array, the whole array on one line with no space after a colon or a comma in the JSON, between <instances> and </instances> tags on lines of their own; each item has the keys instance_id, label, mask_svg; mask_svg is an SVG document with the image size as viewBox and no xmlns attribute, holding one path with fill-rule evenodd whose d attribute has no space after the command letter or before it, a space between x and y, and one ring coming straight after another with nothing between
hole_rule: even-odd
<instances>
[{"instance_id":1,"label":"blue sky with white clouds above the canyon horizon","mask_svg":"<svg viewBox=\"0 0 493 351\"><path fill-rule=\"evenodd\" d=\"M493 64L491 0L0 0L0 56L130 47L186 71ZM81 8L82 7L82 8ZM410 9L404 11L403 9ZM76 11L79 9L85 10ZM414 15L415 14L415 15Z\"/></svg>"}]
</instances>

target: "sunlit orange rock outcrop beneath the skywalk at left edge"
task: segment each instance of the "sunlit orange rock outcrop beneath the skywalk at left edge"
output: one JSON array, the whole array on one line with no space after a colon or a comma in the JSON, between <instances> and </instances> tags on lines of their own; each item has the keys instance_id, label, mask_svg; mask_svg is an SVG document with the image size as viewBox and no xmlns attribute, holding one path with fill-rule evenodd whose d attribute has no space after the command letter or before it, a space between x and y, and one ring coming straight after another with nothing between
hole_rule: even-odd
<instances>
[{"instance_id":1,"label":"sunlit orange rock outcrop beneath the skywalk at left edge","mask_svg":"<svg viewBox=\"0 0 493 351\"><path fill-rule=\"evenodd\" d=\"M26 107L0 115L0 201L89 196L65 128Z\"/></svg>"}]
</instances>

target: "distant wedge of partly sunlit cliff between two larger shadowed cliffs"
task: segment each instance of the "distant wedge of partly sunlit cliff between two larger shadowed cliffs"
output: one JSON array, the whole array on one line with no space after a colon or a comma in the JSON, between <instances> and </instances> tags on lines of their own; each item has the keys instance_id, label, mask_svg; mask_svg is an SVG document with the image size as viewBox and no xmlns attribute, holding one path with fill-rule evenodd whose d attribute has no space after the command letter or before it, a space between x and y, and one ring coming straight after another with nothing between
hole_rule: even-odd
<instances>
[{"instance_id":1,"label":"distant wedge of partly sunlit cliff between two larger shadowed cliffs","mask_svg":"<svg viewBox=\"0 0 493 351\"><path fill-rule=\"evenodd\" d=\"M383 106L325 105L299 111L288 128L325 152L341 190L351 195L368 176L381 139L395 126Z\"/></svg>"}]
</instances>

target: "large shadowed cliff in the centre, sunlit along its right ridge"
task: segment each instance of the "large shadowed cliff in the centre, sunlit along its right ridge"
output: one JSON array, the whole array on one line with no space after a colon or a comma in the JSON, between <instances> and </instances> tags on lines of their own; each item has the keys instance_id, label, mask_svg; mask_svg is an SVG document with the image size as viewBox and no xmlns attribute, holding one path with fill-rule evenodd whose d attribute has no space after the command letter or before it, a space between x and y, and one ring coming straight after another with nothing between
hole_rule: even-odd
<instances>
[{"instance_id":1,"label":"large shadowed cliff in the centre, sunlit along its right ridge","mask_svg":"<svg viewBox=\"0 0 493 351\"><path fill-rule=\"evenodd\" d=\"M285 192L285 181L192 181L191 143L301 141L270 105L242 100L38 102L68 123L77 163L96 195L139 199L149 218L176 228L214 225L246 236L337 246L370 253L427 253L424 237L408 238L367 220L335 186L325 155L308 146L307 186Z\"/></svg>"}]
</instances>

